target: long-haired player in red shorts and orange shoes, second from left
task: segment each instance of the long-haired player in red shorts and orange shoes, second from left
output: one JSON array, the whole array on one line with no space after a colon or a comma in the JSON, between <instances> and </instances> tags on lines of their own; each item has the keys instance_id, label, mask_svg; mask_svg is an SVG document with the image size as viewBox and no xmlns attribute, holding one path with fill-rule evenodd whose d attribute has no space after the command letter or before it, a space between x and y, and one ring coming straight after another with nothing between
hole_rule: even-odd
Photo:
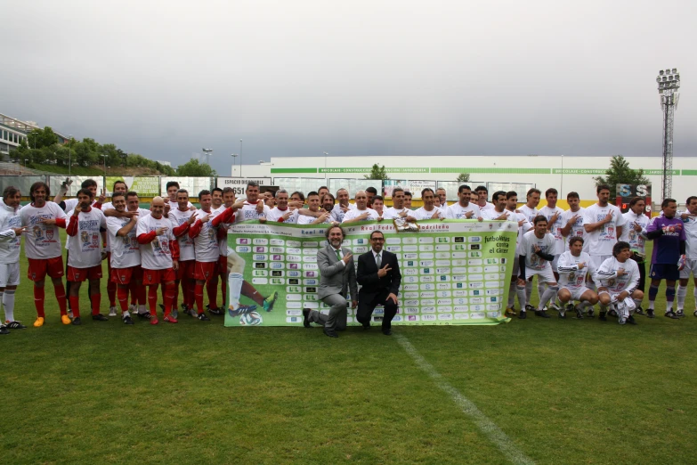
<instances>
[{"instance_id":1,"label":"long-haired player in red shorts and orange shoes, second from left","mask_svg":"<svg viewBox=\"0 0 697 465\"><path fill-rule=\"evenodd\" d=\"M46 274L53 281L58 306L61 309L61 322L70 324L66 310L65 287L63 275L63 250L58 227L65 227L65 213L57 204L47 202L51 192L42 182L31 184L29 198L31 204L21 208L21 224L27 229L24 240L24 253L27 256L28 279L34 281L34 305L38 328L44 325L44 284Z\"/></svg>"}]
</instances>

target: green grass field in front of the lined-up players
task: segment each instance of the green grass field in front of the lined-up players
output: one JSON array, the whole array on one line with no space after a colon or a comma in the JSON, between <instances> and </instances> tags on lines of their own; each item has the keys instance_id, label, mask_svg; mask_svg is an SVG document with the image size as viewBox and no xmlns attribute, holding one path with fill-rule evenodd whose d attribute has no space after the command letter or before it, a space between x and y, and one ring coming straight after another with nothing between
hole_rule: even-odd
<instances>
[{"instance_id":1,"label":"green grass field in front of the lined-up players","mask_svg":"<svg viewBox=\"0 0 697 465\"><path fill-rule=\"evenodd\" d=\"M63 326L46 286L45 326L31 326L22 274L16 314L28 329L0 337L3 463L672 464L697 456L692 286L681 321L529 317L395 327L391 338L349 328L339 339L320 328L226 329L220 317L126 327L87 316Z\"/></svg>"}]
</instances>

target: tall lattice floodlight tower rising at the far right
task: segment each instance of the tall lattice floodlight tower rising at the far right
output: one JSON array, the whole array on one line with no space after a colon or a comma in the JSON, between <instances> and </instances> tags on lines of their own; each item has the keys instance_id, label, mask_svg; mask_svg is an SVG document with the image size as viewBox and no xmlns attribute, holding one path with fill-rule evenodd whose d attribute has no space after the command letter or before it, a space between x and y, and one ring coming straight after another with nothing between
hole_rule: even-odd
<instances>
[{"instance_id":1,"label":"tall lattice floodlight tower rising at the far right","mask_svg":"<svg viewBox=\"0 0 697 465\"><path fill-rule=\"evenodd\" d=\"M668 199L673 187L673 122L680 96L677 93L677 89L680 88L680 73L676 68L665 71L661 69L656 82L661 95L661 110L663 110L663 191L661 193L662 199Z\"/></svg>"}]
</instances>

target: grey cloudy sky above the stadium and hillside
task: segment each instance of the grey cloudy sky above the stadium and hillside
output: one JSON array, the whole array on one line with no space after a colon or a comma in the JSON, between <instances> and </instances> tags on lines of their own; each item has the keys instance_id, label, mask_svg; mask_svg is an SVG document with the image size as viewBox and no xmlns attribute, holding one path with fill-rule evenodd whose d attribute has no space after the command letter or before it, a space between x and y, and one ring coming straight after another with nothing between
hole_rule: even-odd
<instances>
[{"instance_id":1,"label":"grey cloudy sky above the stadium and hillside","mask_svg":"<svg viewBox=\"0 0 697 465\"><path fill-rule=\"evenodd\" d=\"M4 2L0 112L178 165L697 153L697 3ZM693 45L690 45L693 44Z\"/></svg>"}]
</instances>

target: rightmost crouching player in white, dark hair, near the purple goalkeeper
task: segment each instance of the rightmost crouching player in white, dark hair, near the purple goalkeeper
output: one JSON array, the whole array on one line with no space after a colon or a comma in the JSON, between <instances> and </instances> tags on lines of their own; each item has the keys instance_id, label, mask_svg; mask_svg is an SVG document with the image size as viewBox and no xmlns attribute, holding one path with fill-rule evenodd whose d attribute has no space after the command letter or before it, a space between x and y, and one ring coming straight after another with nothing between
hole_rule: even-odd
<instances>
[{"instance_id":1,"label":"rightmost crouching player in white, dark hair, near the purple goalkeeper","mask_svg":"<svg viewBox=\"0 0 697 465\"><path fill-rule=\"evenodd\" d=\"M617 242L612 248L612 257L600 265L593 281L596 281L600 305L611 307L617 312L618 322L636 324L634 311L641 303L644 292L636 289L639 285L639 267L630 260L632 252L627 242ZM600 320L607 321L604 313Z\"/></svg>"}]
</instances>

